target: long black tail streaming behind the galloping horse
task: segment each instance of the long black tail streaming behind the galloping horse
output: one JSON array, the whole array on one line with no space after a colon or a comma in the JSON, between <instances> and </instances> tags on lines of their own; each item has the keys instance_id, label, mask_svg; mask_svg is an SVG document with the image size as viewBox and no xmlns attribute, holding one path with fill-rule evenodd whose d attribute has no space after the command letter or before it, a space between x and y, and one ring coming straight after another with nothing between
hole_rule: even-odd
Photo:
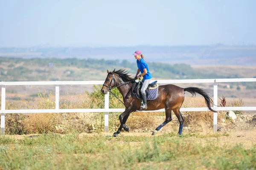
<instances>
[{"instance_id":1,"label":"long black tail streaming behind the galloping horse","mask_svg":"<svg viewBox=\"0 0 256 170\"><path fill-rule=\"evenodd\" d=\"M191 93L192 97L196 96L196 94L201 94L205 99L205 103L207 104L207 108L210 111L216 112L211 108L211 104L214 105L213 102L212 102L211 97L203 89L190 87L190 88L184 88L184 91L187 91L187 92Z\"/></svg>"}]
</instances>

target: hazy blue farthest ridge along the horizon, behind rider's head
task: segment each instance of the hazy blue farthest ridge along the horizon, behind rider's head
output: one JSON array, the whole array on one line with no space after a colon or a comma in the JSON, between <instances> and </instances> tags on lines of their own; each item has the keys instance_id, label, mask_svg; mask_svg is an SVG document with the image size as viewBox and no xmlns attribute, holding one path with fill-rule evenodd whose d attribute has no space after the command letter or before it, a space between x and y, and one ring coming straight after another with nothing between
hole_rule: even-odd
<instances>
[{"instance_id":1,"label":"hazy blue farthest ridge along the horizon, behind rider's head","mask_svg":"<svg viewBox=\"0 0 256 170\"><path fill-rule=\"evenodd\" d=\"M134 62L133 52L143 52L147 62L189 65L256 65L256 45L230 46L134 46L134 47L31 47L0 48L0 57L126 59Z\"/></svg>"}]
</instances>

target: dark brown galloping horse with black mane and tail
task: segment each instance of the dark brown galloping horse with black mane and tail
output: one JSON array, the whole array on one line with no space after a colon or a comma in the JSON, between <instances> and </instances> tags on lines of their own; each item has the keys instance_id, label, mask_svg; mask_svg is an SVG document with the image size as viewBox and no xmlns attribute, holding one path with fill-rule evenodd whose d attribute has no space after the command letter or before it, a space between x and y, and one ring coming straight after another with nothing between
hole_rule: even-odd
<instances>
[{"instance_id":1,"label":"dark brown galloping horse with black mane and tail","mask_svg":"<svg viewBox=\"0 0 256 170\"><path fill-rule=\"evenodd\" d=\"M141 100L137 98L136 94L132 92L132 86L135 82L134 78L131 78L125 69L120 69L118 71L115 70L116 69L114 69L112 72L107 70L108 76L101 89L103 94L107 94L108 91L111 91L111 89L118 88L119 92L122 94L123 103L125 105L125 111L119 116L121 125L117 132L113 134L113 136L117 136L121 132L122 128L124 128L125 131L129 131L129 126L126 126L125 122L127 121L131 112L140 111L141 102ZM160 85L158 88L157 98L151 100L150 103L148 103L148 108L146 111L154 111L165 108L166 120L154 130L152 135L156 134L157 131L160 130L168 122L172 121L172 111L175 113L180 122L178 133L181 135L184 118L180 113L180 107L183 104L185 98L185 91L191 93L192 96L201 94L205 99L208 109L210 111L216 112L211 108L211 104L213 105L212 99L201 88L180 88L171 84Z\"/></svg>"}]
</instances>

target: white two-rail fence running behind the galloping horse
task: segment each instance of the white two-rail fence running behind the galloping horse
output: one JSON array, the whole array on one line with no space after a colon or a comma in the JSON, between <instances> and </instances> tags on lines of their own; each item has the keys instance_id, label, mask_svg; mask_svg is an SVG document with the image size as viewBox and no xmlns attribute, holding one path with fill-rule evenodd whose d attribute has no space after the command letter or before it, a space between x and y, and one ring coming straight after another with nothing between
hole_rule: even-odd
<instances>
[{"instance_id":1,"label":"white two-rail fence running behind the galloping horse","mask_svg":"<svg viewBox=\"0 0 256 170\"><path fill-rule=\"evenodd\" d=\"M152 80L154 81L154 80ZM218 102L218 82L256 82L256 78L242 79L178 79L178 80L157 80L159 84L175 83L212 83L213 84L213 102ZM85 113L85 112L104 112L105 113L105 132L108 132L108 113L123 112L125 109L109 108L109 93L105 95L104 109L59 109L59 86L60 85L102 85L104 81L55 81L55 82L0 82L2 85L1 96L1 134L5 130L6 113ZM23 109L6 110L6 86L9 85L55 85L55 109ZM256 107L212 107L216 111L256 111ZM165 111L160 109L154 112ZM180 108L180 111L209 111L207 107L203 108ZM213 113L213 131L217 131L217 113Z\"/></svg>"}]
</instances>

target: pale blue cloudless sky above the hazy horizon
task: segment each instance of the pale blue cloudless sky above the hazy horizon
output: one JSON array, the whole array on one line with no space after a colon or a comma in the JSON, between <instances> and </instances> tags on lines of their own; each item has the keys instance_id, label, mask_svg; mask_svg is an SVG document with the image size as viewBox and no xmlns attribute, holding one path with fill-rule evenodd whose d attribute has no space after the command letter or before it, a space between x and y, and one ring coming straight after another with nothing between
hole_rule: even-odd
<instances>
[{"instance_id":1,"label":"pale blue cloudless sky above the hazy horizon","mask_svg":"<svg viewBox=\"0 0 256 170\"><path fill-rule=\"evenodd\" d=\"M256 45L255 0L0 0L0 47Z\"/></svg>"}]
</instances>

